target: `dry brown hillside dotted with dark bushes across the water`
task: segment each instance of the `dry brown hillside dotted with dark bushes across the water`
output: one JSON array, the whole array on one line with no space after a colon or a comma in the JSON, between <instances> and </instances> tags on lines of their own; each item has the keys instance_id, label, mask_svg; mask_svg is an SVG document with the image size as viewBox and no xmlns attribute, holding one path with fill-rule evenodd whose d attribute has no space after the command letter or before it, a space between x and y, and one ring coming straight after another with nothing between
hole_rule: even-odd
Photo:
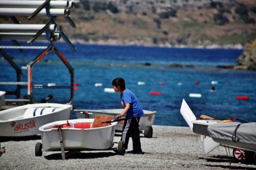
<instances>
[{"instance_id":1,"label":"dry brown hillside dotted with dark bushes across the water","mask_svg":"<svg viewBox=\"0 0 256 170\"><path fill-rule=\"evenodd\" d=\"M73 41L165 45L208 46L245 45L256 37L256 0L237 0L236 4L211 4L203 7L182 7L170 12L118 12L102 4L76 4L71 18L77 28L59 18L57 23ZM106 5L106 4L104 4ZM88 8L89 7L89 8ZM115 11L116 10L116 11ZM38 17L23 23L46 23ZM1 18L1 23L11 23Z\"/></svg>"}]
</instances>

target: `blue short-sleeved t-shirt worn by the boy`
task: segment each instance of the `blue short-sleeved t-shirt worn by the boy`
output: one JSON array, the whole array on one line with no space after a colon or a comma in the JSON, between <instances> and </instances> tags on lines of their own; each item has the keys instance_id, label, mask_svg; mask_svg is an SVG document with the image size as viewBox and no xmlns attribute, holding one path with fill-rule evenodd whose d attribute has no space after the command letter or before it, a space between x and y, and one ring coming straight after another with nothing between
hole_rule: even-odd
<instances>
[{"instance_id":1,"label":"blue short-sleeved t-shirt worn by the boy","mask_svg":"<svg viewBox=\"0 0 256 170\"><path fill-rule=\"evenodd\" d=\"M144 115L142 108L140 107L140 102L137 97L129 89L125 89L124 93L120 95L122 106L125 107L126 104L130 103L130 109L126 113L126 117L142 116Z\"/></svg>"}]
</instances>

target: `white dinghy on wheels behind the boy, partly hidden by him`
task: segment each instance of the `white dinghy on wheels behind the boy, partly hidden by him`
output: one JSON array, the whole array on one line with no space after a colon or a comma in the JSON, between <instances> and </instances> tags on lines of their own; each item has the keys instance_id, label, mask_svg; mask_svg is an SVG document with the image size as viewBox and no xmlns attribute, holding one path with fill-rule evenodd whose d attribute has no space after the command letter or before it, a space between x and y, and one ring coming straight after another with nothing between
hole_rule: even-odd
<instances>
[{"instance_id":1,"label":"white dinghy on wheels behind the boy, partly hidden by him","mask_svg":"<svg viewBox=\"0 0 256 170\"><path fill-rule=\"evenodd\" d=\"M78 118L94 118L97 115L102 115L102 116L112 116L113 119L116 115L119 115L122 113L124 109L101 109L101 110L78 110L74 109L74 112L76 113L76 116ZM154 118L156 115L156 111L148 111L148 110L143 110L144 115L140 117L140 122L139 122L139 130L144 131L144 137L147 138L152 138L153 135L153 122ZM121 117L125 118L125 117ZM118 121L116 125L116 131L122 131L124 126L124 121Z\"/></svg>"}]
</instances>

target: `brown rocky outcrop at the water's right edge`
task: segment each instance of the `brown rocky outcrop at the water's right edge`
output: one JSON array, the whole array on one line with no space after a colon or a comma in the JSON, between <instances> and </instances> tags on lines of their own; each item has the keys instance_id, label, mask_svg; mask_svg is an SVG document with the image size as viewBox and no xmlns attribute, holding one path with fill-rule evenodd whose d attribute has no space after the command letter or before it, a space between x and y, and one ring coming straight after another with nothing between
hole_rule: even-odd
<instances>
[{"instance_id":1,"label":"brown rocky outcrop at the water's right edge","mask_svg":"<svg viewBox=\"0 0 256 170\"><path fill-rule=\"evenodd\" d=\"M256 39L246 44L244 52L237 59L237 68L256 70Z\"/></svg>"}]
</instances>

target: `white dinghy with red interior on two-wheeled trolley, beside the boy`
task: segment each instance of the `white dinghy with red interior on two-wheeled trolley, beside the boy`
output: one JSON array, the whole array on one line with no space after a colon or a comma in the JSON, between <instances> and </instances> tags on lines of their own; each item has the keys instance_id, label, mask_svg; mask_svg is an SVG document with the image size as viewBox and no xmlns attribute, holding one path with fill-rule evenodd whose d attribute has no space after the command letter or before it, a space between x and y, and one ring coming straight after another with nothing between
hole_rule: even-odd
<instances>
[{"instance_id":1,"label":"white dinghy with red interior on two-wheeled trolley, beside the boy","mask_svg":"<svg viewBox=\"0 0 256 170\"><path fill-rule=\"evenodd\" d=\"M110 116L107 118L112 119ZM105 116L98 116L95 121L94 119L73 119L55 121L39 127L42 144L36 143L36 156L42 156L42 149L43 151L62 151L62 159L65 159L65 151L110 149L114 145L117 122L101 124L100 122L104 120L106 120ZM124 149L123 143L118 143L118 147L119 145ZM120 152L124 153L123 150Z\"/></svg>"}]
</instances>

